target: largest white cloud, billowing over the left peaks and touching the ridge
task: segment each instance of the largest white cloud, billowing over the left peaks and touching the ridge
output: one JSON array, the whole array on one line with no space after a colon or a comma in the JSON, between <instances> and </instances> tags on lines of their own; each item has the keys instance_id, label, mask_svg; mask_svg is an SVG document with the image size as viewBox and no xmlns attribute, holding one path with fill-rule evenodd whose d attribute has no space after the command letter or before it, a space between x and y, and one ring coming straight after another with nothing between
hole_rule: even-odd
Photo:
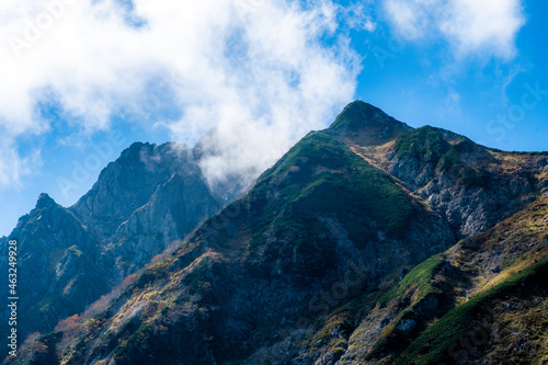
<instances>
[{"instance_id":1,"label":"largest white cloud, billowing over the left peaks and touching the ridge","mask_svg":"<svg viewBox=\"0 0 548 365\"><path fill-rule=\"evenodd\" d=\"M331 1L301 8L276 0L134 0L133 8L128 14L115 0L2 1L5 138L50 133L36 113L48 90L69 123L87 133L110 128L122 112L181 141L217 126L226 156L205 168L226 170L229 161L260 171L353 96L356 56L338 37L329 47L320 41L339 26L342 10ZM134 26L136 20L142 25ZM162 117L167 107L182 116ZM1 158L0 175L18 160Z\"/></svg>"}]
</instances>

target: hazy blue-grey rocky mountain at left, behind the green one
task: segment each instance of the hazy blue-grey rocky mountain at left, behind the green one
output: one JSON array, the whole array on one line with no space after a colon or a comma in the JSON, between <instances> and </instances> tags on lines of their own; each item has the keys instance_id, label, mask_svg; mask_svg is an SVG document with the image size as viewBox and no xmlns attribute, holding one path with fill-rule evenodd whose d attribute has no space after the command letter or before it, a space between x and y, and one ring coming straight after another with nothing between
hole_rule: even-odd
<instances>
[{"instance_id":1,"label":"hazy blue-grey rocky mountain at left, behind the green one","mask_svg":"<svg viewBox=\"0 0 548 365\"><path fill-rule=\"evenodd\" d=\"M19 242L20 339L82 312L226 205L198 163L184 145L136 142L73 206L42 194L10 235ZM4 252L7 244L3 238ZM5 272L7 259L0 261ZM8 297L8 287L2 290ZM2 328L7 316L2 310Z\"/></svg>"}]
</instances>

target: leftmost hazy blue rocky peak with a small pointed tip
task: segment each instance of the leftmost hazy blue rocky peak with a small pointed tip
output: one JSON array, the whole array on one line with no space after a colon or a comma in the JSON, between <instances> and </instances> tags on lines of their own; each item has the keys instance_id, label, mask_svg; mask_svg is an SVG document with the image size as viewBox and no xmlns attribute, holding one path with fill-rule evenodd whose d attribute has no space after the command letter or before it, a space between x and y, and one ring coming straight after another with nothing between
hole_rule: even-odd
<instances>
[{"instance_id":1,"label":"leftmost hazy blue rocky peak with a small pointed tip","mask_svg":"<svg viewBox=\"0 0 548 365\"><path fill-rule=\"evenodd\" d=\"M107 260L100 252L95 237L69 210L42 194L36 207L19 220L10 236L19 249L18 333L49 331L65 318L94 301L110 289L104 267ZM8 252L5 241L2 252ZM0 267L8 272L7 256ZM7 295L8 285L2 287ZM1 312L2 330L8 312ZM39 319L39 320L38 320Z\"/></svg>"}]
</instances>

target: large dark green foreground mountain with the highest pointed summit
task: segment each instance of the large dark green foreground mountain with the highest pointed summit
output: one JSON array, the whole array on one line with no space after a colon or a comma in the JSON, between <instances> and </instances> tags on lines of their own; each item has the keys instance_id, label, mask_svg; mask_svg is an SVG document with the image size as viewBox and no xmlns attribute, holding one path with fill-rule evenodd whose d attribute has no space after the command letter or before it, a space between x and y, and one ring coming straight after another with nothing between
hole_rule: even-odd
<instances>
[{"instance_id":1,"label":"large dark green foreground mountain with the highest pointed summit","mask_svg":"<svg viewBox=\"0 0 548 365\"><path fill-rule=\"evenodd\" d=\"M354 102L7 363L541 364L547 203L548 153Z\"/></svg>"}]
</instances>

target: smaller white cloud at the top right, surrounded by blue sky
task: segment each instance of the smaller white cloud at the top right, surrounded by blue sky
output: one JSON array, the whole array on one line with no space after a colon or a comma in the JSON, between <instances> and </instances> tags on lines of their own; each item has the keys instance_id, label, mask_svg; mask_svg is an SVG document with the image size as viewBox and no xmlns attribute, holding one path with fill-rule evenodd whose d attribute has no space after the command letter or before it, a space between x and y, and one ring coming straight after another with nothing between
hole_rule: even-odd
<instances>
[{"instance_id":1,"label":"smaller white cloud at the top right, surrounded by blue sky","mask_svg":"<svg viewBox=\"0 0 548 365\"><path fill-rule=\"evenodd\" d=\"M525 24L521 0L386 0L385 5L400 36L443 37L458 56L510 59Z\"/></svg>"}]
</instances>

